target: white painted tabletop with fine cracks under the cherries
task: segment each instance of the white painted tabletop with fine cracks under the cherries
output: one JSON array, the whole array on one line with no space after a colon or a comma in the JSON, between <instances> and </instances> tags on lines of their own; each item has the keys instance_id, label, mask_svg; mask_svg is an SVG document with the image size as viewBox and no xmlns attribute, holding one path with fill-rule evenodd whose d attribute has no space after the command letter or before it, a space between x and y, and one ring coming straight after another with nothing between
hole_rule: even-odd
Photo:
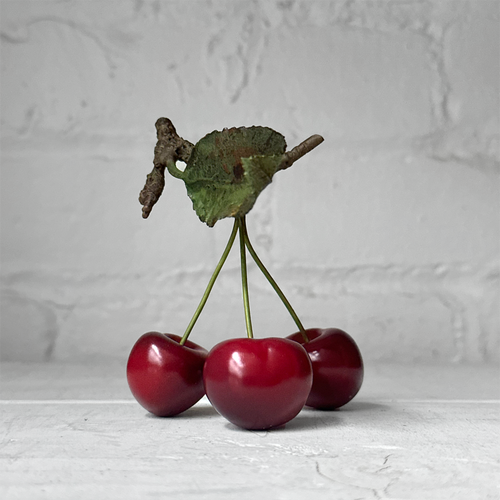
<instances>
[{"instance_id":1,"label":"white painted tabletop with fine cracks under the cherries","mask_svg":"<svg viewBox=\"0 0 500 500\"><path fill-rule=\"evenodd\" d=\"M500 498L500 371L369 366L344 409L240 430L206 400L160 419L121 365L0 365L0 496Z\"/></svg>"}]
</instances>

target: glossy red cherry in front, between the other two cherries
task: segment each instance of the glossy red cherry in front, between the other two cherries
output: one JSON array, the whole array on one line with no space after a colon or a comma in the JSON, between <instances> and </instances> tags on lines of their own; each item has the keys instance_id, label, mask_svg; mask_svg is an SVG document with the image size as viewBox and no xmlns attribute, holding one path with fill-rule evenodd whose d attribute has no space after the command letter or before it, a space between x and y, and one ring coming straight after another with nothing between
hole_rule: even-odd
<instances>
[{"instance_id":1,"label":"glossy red cherry in front, between the other two cherries","mask_svg":"<svg viewBox=\"0 0 500 500\"><path fill-rule=\"evenodd\" d=\"M281 338L231 339L217 344L203 370L215 409L245 429L285 424L303 408L312 384L306 351Z\"/></svg>"}]
</instances>

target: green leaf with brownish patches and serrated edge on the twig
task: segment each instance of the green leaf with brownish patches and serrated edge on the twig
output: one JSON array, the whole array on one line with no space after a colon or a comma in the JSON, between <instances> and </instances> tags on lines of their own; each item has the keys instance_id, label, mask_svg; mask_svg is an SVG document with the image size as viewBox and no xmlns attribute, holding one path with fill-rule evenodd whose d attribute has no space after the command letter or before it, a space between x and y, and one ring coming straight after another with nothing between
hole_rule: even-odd
<instances>
[{"instance_id":1,"label":"green leaf with brownish patches and serrated edge on the twig","mask_svg":"<svg viewBox=\"0 0 500 500\"><path fill-rule=\"evenodd\" d=\"M267 127L214 131L194 146L178 176L198 217L213 226L251 210L279 170L285 150L285 138Z\"/></svg>"}]
</instances>

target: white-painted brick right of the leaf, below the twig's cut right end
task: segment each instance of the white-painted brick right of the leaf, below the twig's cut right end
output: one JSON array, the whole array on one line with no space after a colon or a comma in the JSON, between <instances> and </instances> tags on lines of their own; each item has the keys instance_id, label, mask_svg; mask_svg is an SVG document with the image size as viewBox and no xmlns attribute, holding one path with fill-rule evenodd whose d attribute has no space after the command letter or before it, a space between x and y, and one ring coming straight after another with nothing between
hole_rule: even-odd
<instances>
[{"instance_id":1,"label":"white-painted brick right of the leaf, below the twig's cut right end","mask_svg":"<svg viewBox=\"0 0 500 500\"><path fill-rule=\"evenodd\" d=\"M276 180L277 263L479 263L500 253L491 230L498 176L403 152L342 154L326 144L301 162Z\"/></svg>"}]
</instances>

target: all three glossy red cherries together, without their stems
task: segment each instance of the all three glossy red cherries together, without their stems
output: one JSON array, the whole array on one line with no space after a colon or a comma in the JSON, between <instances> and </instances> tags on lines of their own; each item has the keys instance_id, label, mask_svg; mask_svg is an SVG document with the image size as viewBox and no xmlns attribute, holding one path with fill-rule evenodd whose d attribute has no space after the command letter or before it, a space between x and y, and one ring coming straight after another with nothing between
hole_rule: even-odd
<instances>
[{"instance_id":1,"label":"all three glossy red cherries together, without their stems","mask_svg":"<svg viewBox=\"0 0 500 500\"><path fill-rule=\"evenodd\" d=\"M132 394L158 416L177 415L206 393L227 420L269 429L293 419L304 405L335 409L361 387L363 361L354 340L335 328L312 328L281 338L238 338L208 353L172 334L150 332L127 363Z\"/></svg>"}]
</instances>

